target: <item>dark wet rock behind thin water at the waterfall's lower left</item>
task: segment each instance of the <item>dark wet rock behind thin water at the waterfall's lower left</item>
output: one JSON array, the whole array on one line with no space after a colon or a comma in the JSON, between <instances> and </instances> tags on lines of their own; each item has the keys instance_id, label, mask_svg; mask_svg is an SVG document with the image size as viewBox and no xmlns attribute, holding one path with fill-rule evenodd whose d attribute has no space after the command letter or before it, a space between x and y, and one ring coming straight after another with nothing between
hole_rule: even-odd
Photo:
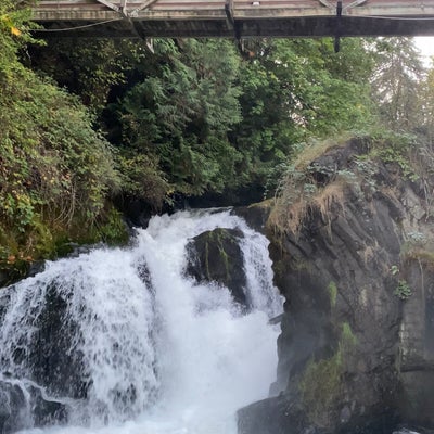
<instances>
[{"instance_id":1,"label":"dark wet rock behind thin water at the waterfall's lower left","mask_svg":"<svg viewBox=\"0 0 434 434\"><path fill-rule=\"evenodd\" d=\"M0 296L1 326L13 290L11 286ZM68 319L66 307L67 301L52 285L47 291L40 315L33 317L34 311L29 312L28 321L37 333L29 346L23 342L9 356L17 371L31 370L31 378L17 380L11 372L0 372L1 433L66 422L68 409L54 397L86 396L88 384L82 380L82 360L80 355L71 352L77 324Z\"/></svg>"}]
</instances>

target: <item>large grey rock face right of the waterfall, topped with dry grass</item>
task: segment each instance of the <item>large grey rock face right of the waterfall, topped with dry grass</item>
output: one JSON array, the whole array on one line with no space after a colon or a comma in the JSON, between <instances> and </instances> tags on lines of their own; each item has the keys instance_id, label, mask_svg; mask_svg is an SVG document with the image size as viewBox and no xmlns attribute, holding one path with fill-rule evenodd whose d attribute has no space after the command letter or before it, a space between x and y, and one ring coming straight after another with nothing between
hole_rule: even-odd
<instances>
[{"instance_id":1,"label":"large grey rock face right of the waterfall, topped with dry grass","mask_svg":"<svg viewBox=\"0 0 434 434\"><path fill-rule=\"evenodd\" d=\"M394 165L360 170L363 151L353 141L314 162L318 194L298 229L270 235L286 299L271 387L279 396L241 409L240 434L434 427L427 197Z\"/></svg>"}]
</instances>

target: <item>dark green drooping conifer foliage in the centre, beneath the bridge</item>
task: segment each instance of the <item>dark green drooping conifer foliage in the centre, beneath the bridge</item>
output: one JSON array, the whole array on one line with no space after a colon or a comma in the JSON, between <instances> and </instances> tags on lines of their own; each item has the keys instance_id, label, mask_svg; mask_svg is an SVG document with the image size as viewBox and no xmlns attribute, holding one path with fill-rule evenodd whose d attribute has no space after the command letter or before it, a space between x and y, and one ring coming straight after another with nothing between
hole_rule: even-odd
<instances>
[{"instance_id":1,"label":"dark green drooping conifer foliage in the centre, beneath the bridge","mask_svg":"<svg viewBox=\"0 0 434 434\"><path fill-rule=\"evenodd\" d=\"M241 119L239 90L232 85L239 64L234 48L227 41L189 39L178 46L157 41L155 50L159 62L141 65L142 80L111 107L123 130L120 155L131 163L124 184L132 181L140 190L136 175L142 170L133 169L132 162L145 154L152 162L151 183L159 186L155 197L148 194L154 205L161 206L170 192L221 192L235 182L240 159L228 140Z\"/></svg>"}]
</instances>

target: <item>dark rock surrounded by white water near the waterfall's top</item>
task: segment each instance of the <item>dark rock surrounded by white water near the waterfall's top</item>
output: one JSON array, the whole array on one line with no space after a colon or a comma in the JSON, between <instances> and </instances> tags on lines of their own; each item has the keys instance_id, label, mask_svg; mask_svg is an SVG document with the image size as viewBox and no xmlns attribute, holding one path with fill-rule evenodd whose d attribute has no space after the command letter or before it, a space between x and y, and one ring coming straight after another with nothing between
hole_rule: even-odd
<instances>
[{"instance_id":1,"label":"dark rock surrounded by white water near the waterfall's top","mask_svg":"<svg viewBox=\"0 0 434 434\"><path fill-rule=\"evenodd\" d=\"M195 237L187 245L189 263L187 275L197 282L216 282L229 289L233 299L243 308L250 308L245 295L246 279L240 229L217 228Z\"/></svg>"}]
</instances>

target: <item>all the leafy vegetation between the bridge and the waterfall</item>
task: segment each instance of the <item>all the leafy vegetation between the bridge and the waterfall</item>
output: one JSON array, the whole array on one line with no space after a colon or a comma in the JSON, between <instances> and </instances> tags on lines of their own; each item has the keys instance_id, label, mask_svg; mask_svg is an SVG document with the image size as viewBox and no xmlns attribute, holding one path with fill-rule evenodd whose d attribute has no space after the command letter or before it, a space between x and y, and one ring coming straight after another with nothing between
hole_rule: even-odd
<instances>
[{"instance_id":1,"label":"all the leafy vegetation between the bridge and the waterfall","mask_svg":"<svg viewBox=\"0 0 434 434\"><path fill-rule=\"evenodd\" d=\"M344 39L340 53L329 38L253 39L243 52L229 40L166 39L151 53L128 40L41 43L28 17L12 0L0 5L4 267L72 240L125 239L112 199L158 212L194 196L248 203L278 189L299 205L286 219L296 230L312 207L327 215L340 200L309 164L344 131L369 132L372 153L334 181L373 182L382 158L431 188L414 164L434 161L433 73L410 39ZM380 125L396 131L379 135Z\"/></svg>"}]
</instances>

